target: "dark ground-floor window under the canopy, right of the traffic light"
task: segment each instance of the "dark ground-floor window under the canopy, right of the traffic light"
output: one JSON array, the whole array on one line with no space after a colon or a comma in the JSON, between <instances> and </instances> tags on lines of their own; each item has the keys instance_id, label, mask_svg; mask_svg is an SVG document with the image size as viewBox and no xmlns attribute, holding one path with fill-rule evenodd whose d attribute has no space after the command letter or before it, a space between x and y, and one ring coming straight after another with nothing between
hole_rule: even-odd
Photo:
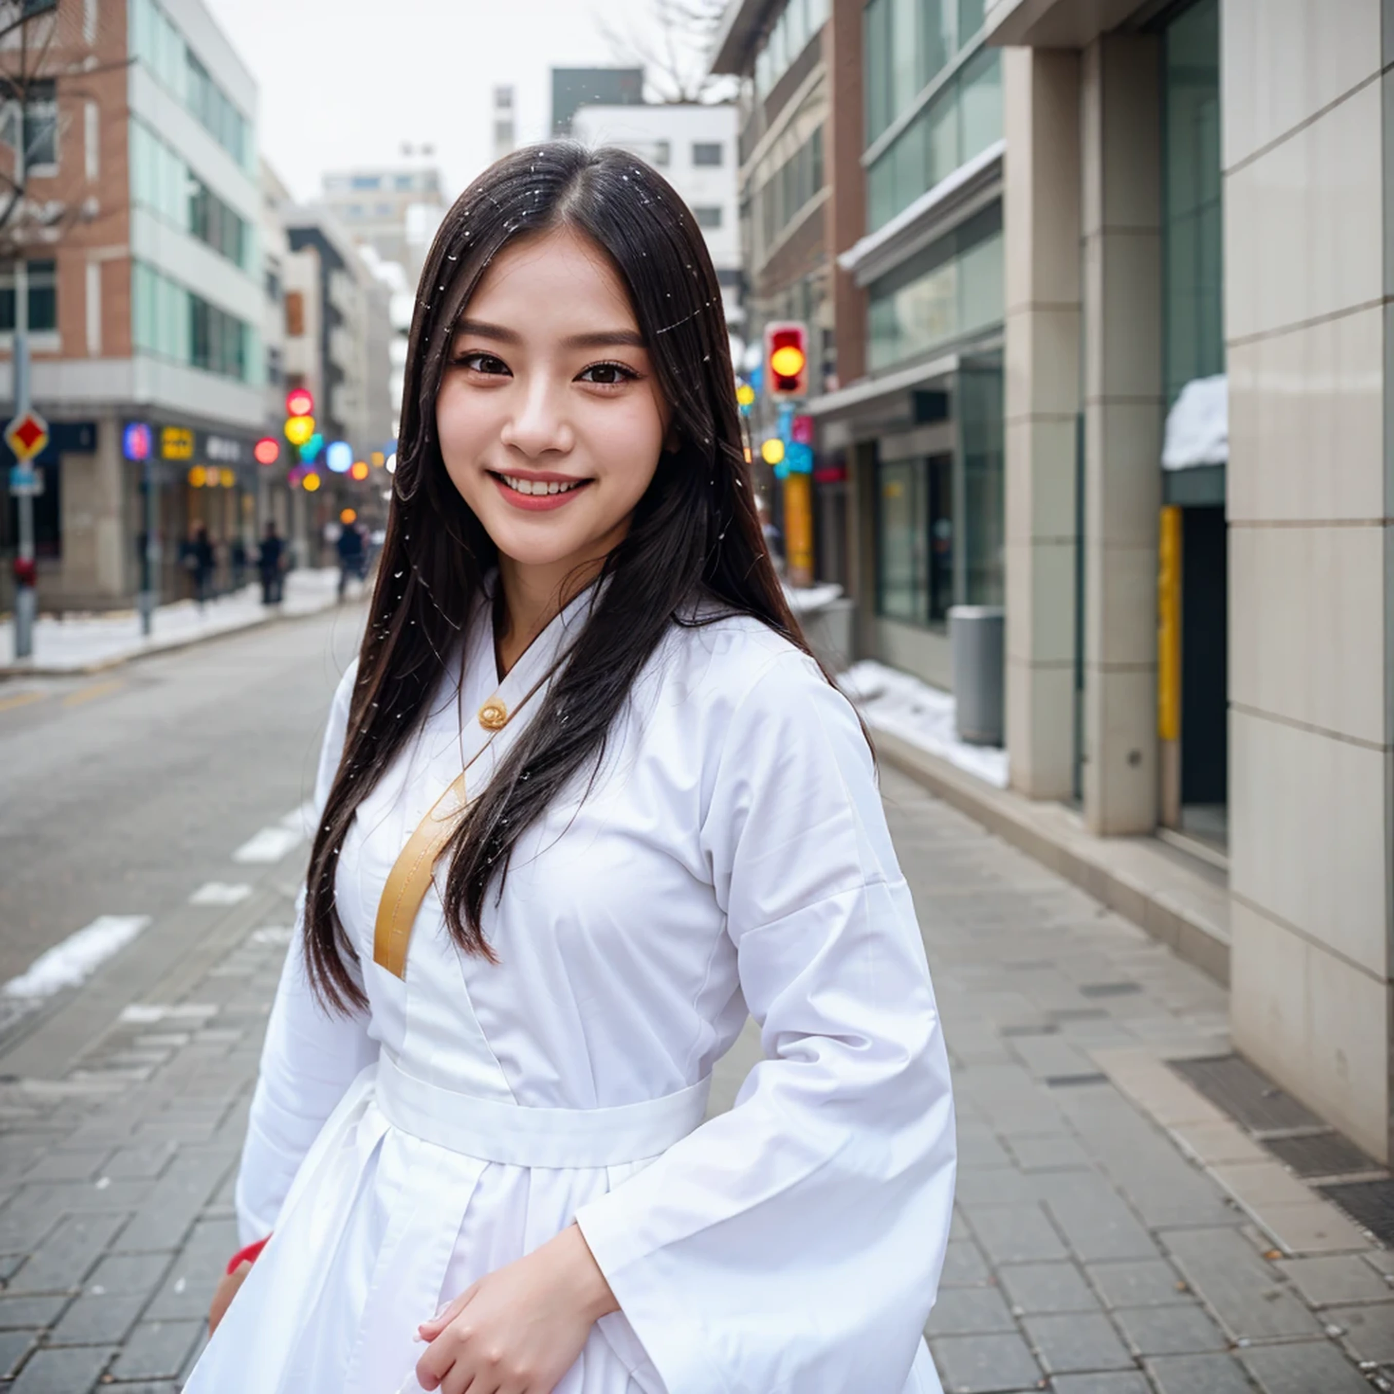
<instances>
[{"instance_id":1,"label":"dark ground-floor window under the canopy, right of the traffic light","mask_svg":"<svg viewBox=\"0 0 1394 1394\"><path fill-rule=\"evenodd\" d=\"M877 613L942 623L953 604L953 457L877 466Z\"/></svg>"}]
</instances>

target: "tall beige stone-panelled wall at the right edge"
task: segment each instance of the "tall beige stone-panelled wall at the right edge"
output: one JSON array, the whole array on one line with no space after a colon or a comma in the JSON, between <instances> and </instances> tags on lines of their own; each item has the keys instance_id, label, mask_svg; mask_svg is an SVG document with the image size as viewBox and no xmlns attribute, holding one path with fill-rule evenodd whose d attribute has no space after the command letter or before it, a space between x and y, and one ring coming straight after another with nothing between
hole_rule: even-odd
<instances>
[{"instance_id":1,"label":"tall beige stone-panelled wall at the right edge","mask_svg":"<svg viewBox=\"0 0 1394 1394\"><path fill-rule=\"evenodd\" d=\"M1234 1032L1383 1160L1394 36L1380 0L1223 15Z\"/></svg>"}]
</instances>

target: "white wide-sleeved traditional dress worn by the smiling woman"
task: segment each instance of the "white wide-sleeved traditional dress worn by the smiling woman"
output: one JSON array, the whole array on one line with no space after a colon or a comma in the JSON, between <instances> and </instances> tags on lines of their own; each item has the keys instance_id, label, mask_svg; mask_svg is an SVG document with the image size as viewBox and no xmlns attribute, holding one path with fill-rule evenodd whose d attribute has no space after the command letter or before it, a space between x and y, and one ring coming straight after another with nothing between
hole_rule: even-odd
<instances>
[{"instance_id":1,"label":"white wide-sleeved traditional dress worn by the smiling woman","mask_svg":"<svg viewBox=\"0 0 1394 1394\"><path fill-rule=\"evenodd\" d=\"M921 1330L953 1196L948 1061L871 754L807 657L746 618L672 626L585 797L491 895L499 962L456 947L431 889L404 980L374 963L395 860L489 739L475 714L555 671L587 605L502 683L481 605L361 803L336 896L369 1006L322 1011L293 944L237 1185L243 1241L273 1235L185 1394L414 1391L417 1324L573 1220L620 1312L559 1394L940 1394ZM747 1011L765 1059L701 1122Z\"/></svg>"}]
</instances>

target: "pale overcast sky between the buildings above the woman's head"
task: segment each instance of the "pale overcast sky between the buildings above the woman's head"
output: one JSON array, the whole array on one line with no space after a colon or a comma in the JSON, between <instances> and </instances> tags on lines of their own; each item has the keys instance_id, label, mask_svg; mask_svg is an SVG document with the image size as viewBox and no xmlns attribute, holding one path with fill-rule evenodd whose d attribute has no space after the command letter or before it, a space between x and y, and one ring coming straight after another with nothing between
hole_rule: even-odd
<instances>
[{"instance_id":1,"label":"pale overcast sky between the buildings above the woman's head","mask_svg":"<svg viewBox=\"0 0 1394 1394\"><path fill-rule=\"evenodd\" d=\"M450 195L488 164L492 89L542 139L553 67L620 61L601 21L643 32L650 0L208 0L261 86L262 152L298 199L326 170L434 144Z\"/></svg>"}]
</instances>

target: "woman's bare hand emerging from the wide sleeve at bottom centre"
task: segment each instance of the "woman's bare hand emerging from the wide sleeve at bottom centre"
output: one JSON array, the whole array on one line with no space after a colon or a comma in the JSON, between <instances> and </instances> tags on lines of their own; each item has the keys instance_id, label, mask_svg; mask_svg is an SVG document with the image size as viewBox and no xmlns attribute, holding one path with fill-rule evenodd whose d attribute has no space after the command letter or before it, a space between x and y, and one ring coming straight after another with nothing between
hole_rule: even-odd
<instances>
[{"instance_id":1,"label":"woman's bare hand emerging from the wide sleeve at bottom centre","mask_svg":"<svg viewBox=\"0 0 1394 1394\"><path fill-rule=\"evenodd\" d=\"M417 1383L443 1394L552 1394L595 1322L619 1303L573 1224L481 1278L438 1317Z\"/></svg>"}]
</instances>

